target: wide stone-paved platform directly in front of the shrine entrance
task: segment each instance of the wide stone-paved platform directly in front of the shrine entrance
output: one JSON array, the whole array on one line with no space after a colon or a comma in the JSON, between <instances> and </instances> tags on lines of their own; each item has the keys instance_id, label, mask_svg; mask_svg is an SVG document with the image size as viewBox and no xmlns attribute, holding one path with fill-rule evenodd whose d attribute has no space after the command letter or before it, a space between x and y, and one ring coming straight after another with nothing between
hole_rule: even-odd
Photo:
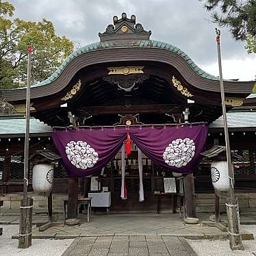
<instances>
[{"instance_id":1,"label":"wide stone-paved platform directly in front of the shrine entrance","mask_svg":"<svg viewBox=\"0 0 256 256\"><path fill-rule=\"evenodd\" d=\"M38 227L34 226L32 238L71 239L101 235L172 235L190 239L228 237L227 232L222 232L217 227L185 225L179 214L95 214L92 215L90 223L86 222L85 217L79 216L81 223L75 226L62 225L50 227L45 231L39 231ZM203 216L199 218L204 220ZM209 215L205 219L209 220ZM18 238L18 234L13 238Z\"/></svg>"}]
</instances>

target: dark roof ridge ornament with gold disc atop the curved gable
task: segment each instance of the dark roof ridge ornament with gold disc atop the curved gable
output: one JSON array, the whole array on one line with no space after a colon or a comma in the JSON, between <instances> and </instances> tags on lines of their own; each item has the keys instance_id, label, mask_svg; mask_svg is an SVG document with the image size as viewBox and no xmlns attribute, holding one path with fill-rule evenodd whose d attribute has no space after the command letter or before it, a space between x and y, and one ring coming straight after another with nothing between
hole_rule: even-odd
<instances>
[{"instance_id":1,"label":"dark roof ridge ornament with gold disc atop the curved gable","mask_svg":"<svg viewBox=\"0 0 256 256\"><path fill-rule=\"evenodd\" d=\"M101 42L113 40L149 40L151 31L146 31L140 23L136 24L136 16L133 14L131 18L127 18L127 14L123 12L122 17L113 17L114 25L107 25L104 33L99 33Z\"/></svg>"}]
</instances>

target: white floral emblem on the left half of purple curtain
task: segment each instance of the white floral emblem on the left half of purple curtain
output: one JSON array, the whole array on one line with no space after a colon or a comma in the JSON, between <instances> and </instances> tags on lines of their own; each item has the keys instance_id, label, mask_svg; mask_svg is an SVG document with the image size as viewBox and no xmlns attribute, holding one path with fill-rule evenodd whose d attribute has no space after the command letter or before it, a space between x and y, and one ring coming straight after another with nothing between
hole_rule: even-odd
<instances>
[{"instance_id":1,"label":"white floral emblem on the left half of purple curtain","mask_svg":"<svg viewBox=\"0 0 256 256\"><path fill-rule=\"evenodd\" d=\"M75 167L80 169L92 168L98 161L98 153L83 141L71 141L66 144L66 156Z\"/></svg>"}]
</instances>

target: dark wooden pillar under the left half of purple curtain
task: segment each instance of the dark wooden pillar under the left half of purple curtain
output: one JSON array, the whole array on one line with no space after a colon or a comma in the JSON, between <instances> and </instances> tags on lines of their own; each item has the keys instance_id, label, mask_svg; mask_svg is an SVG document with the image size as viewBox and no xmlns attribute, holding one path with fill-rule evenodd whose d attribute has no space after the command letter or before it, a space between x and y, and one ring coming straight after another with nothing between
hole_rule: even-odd
<instances>
[{"instance_id":1,"label":"dark wooden pillar under the left half of purple curtain","mask_svg":"<svg viewBox=\"0 0 256 256\"><path fill-rule=\"evenodd\" d=\"M78 180L68 179L68 219L77 218Z\"/></svg>"}]
</instances>

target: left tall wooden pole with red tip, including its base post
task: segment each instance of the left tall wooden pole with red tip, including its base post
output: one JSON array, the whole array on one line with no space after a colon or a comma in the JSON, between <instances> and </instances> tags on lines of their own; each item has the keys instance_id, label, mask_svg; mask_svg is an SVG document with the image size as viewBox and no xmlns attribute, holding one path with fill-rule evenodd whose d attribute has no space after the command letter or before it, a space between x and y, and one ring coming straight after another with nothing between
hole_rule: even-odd
<instances>
[{"instance_id":1,"label":"left tall wooden pole with red tip, including its base post","mask_svg":"<svg viewBox=\"0 0 256 256\"><path fill-rule=\"evenodd\" d=\"M31 246L31 227L33 200L27 197L29 183L29 118L30 118L30 83L31 83L31 46L27 53L27 95L26 95L26 130L25 130L25 159L23 178L23 201L21 202L21 221L18 239L18 248Z\"/></svg>"}]
</instances>

